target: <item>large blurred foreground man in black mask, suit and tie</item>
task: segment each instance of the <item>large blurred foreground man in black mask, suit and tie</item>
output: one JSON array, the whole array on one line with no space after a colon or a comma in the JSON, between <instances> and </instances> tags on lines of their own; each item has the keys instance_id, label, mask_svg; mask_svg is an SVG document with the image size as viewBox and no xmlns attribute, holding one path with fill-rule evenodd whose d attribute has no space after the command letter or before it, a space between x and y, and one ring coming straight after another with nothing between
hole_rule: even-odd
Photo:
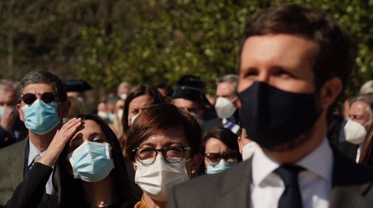
<instances>
[{"instance_id":1,"label":"large blurred foreground man in black mask, suit and tie","mask_svg":"<svg viewBox=\"0 0 373 208\"><path fill-rule=\"evenodd\" d=\"M279 5L246 23L239 57L242 123L253 156L190 180L167 207L373 207L373 170L326 138L354 58L347 33L324 12Z\"/></svg>"}]
</instances>

